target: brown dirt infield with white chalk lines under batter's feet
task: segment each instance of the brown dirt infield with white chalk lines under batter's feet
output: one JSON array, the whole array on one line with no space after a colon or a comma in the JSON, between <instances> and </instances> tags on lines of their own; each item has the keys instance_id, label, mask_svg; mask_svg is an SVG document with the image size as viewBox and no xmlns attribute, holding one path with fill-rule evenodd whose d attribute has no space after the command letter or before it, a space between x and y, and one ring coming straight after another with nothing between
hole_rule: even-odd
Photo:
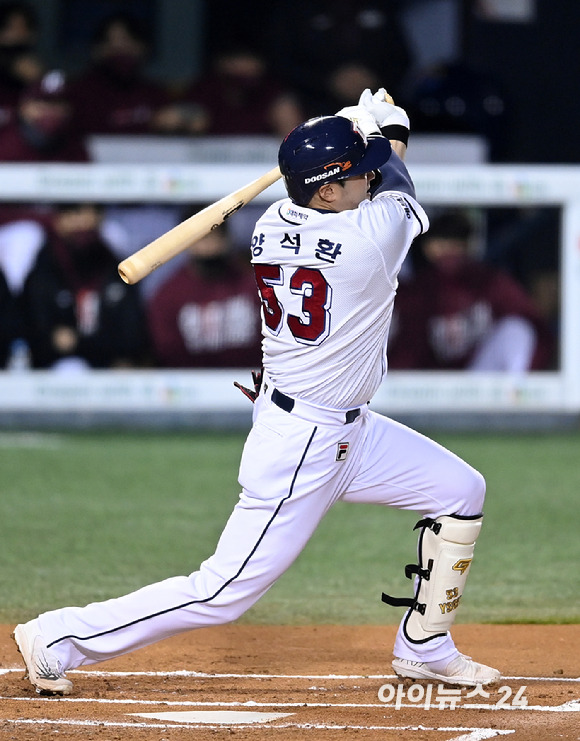
<instances>
[{"instance_id":1,"label":"brown dirt infield with white chalk lines under batter's feet","mask_svg":"<svg viewBox=\"0 0 580 741\"><path fill-rule=\"evenodd\" d=\"M580 739L578 625L456 626L458 647L505 677L471 696L398 682L393 626L233 625L70 672L68 698L34 694L12 627L0 626L1 741Z\"/></svg>"}]
</instances>

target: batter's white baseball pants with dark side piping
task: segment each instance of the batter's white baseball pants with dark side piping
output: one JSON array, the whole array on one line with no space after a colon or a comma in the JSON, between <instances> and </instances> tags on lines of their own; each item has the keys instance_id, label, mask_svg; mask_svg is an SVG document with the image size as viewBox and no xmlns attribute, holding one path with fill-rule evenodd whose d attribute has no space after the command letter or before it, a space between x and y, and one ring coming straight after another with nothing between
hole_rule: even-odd
<instances>
[{"instance_id":1,"label":"batter's white baseball pants with dark side piping","mask_svg":"<svg viewBox=\"0 0 580 741\"><path fill-rule=\"evenodd\" d=\"M432 518L482 511L483 477L418 432L366 406L350 424L343 412L296 407L287 412L269 394L258 398L240 464L239 501L214 555L198 571L40 615L41 631L65 670L235 620L286 571L339 500ZM364 548L361 533L352 537ZM397 634L400 658L437 661L454 652L449 634L420 646L408 644L400 629Z\"/></svg>"}]
</instances>

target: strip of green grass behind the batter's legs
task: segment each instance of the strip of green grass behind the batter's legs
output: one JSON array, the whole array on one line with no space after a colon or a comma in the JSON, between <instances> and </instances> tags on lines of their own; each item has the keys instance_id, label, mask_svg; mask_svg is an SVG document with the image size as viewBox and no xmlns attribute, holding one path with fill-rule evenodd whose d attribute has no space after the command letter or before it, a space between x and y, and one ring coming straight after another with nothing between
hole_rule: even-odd
<instances>
[{"instance_id":1,"label":"strip of green grass behind the batter's legs","mask_svg":"<svg viewBox=\"0 0 580 741\"><path fill-rule=\"evenodd\" d=\"M459 622L578 622L580 435L433 435L486 477ZM238 434L0 434L0 621L189 573L238 494ZM242 620L393 623L416 515L339 504Z\"/></svg>"}]
</instances>

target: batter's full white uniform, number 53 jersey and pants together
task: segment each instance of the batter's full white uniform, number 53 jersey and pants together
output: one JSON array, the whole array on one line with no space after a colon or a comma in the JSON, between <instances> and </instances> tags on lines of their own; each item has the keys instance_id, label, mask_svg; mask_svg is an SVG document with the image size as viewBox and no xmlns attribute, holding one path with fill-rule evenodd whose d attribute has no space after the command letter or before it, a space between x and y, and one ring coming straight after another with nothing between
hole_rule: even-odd
<instances>
[{"instance_id":1,"label":"batter's full white uniform, number 53 jersey and pants together","mask_svg":"<svg viewBox=\"0 0 580 741\"><path fill-rule=\"evenodd\" d=\"M338 501L432 519L479 516L485 482L477 471L366 404L386 371L401 263L427 226L402 191L379 192L341 213L288 199L266 211L252 239L265 381L240 462L240 499L197 571L40 615L42 640L64 669L235 620L289 568ZM448 632L411 644L401 626L399 659L457 655Z\"/></svg>"}]
</instances>

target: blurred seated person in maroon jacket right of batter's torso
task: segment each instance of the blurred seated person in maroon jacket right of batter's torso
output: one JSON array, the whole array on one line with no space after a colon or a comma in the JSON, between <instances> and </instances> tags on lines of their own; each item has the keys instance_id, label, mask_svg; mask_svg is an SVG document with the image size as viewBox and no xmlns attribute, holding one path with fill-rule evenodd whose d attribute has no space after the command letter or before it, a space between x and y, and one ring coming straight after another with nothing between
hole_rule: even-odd
<instances>
[{"instance_id":1,"label":"blurred seated person in maroon jacket right of batter's torso","mask_svg":"<svg viewBox=\"0 0 580 741\"><path fill-rule=\"evenodd\" d=\"M507 273L470 255L473 236L469 217L449 211L417 241L422 260L395 302L392 369L550 367L553 342L537 308Z\"/></svg>"}]
</instances>

